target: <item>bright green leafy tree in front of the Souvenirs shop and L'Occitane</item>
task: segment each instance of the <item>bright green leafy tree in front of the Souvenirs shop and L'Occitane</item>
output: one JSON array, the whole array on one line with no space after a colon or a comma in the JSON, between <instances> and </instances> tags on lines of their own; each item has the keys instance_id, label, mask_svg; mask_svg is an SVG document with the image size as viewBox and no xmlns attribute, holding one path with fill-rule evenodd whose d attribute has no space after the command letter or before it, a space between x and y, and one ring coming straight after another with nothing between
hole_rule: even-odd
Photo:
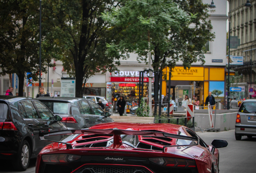
<instances>
[{"instance_id":1,"label":"bright green leafy tree in front of the Souvenirs shop and L'Occitane","mask_svg":"<svg viewBox=\"0 0 256 173\"><path fill-rule=\"evenodd\" d=\"M103 15L113 26L123 28L122 38L108 45L107 54L122 57L124 52L136 52L139 61L146 61L150 42L155 71L173 68L178 60L184 68L192 62L203 64L204 46L214 38L207 8L201 0L127 1Z\"/></svg>"}]
</instances>

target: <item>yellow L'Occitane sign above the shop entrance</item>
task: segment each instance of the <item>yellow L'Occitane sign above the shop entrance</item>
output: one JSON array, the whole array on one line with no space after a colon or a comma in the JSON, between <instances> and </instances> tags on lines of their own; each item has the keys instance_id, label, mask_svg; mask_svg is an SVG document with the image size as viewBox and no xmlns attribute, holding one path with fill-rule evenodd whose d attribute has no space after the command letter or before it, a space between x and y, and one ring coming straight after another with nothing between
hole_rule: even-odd
<instances>
[{"instance_id":1,"label":"yellow L'Occitane sign above the shop entrance","mask_svg":"<svg viewBox=\"0 0 256 173\"><path fill-rule=\"evenodd\" d=\"M171 72L172 76L204 76L203 67L191 67L184 69L184 67L175 67Z\"/></svg>"}]
</instances>

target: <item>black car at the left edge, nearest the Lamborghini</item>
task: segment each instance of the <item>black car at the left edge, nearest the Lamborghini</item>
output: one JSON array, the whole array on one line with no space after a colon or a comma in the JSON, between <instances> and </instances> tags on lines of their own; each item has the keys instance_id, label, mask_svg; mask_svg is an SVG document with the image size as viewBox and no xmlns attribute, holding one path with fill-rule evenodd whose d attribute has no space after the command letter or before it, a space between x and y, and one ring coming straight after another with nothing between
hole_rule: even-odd
<instances>
[{"instance_id":1,"label":"black car at the left edge, nearest the Lamborghini","mask_svg":"<svg viewBox=\"0 0 256 173\"><path fill-rule=\"evenodd\" d=\"M15 169L25 171L30 158L49 144L39 140L39 131L66 130L61 120L38 100L0 96L0 159L10 159Z\"/></svg>"}]
</instances>

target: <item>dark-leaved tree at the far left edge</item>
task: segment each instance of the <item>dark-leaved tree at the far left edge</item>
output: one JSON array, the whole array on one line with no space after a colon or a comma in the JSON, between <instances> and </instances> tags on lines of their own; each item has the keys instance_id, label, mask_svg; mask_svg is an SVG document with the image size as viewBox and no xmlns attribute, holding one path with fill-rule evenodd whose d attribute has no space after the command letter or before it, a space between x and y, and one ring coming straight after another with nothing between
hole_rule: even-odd
<instances>
[{"instance_id":1,"label":"dark-leaved tree at the far left edge","mask_svg":"<svg viewBox=\"0 0 256 173\"><path fill-rule=\"evenodd\" d=\"M38 80L39 1L1 0L0 23L0 75L16 73L23 96L26 72ZM47 59L42 58L42 72Z\"/></svg>"}]
</instances>

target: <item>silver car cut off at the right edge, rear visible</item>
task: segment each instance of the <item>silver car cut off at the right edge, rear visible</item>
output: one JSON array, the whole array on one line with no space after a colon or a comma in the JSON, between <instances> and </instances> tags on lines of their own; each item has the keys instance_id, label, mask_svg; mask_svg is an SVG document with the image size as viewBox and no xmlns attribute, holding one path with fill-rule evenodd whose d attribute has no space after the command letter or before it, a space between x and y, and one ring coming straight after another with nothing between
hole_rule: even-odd
<instances>
[{"instance_id":1,"label":"silver car cut off at the right edge, rear visible","mask_svg":"<svg viewBox=\"0 0 256 173\"><path fill-rule=\"evenodd\" d=\"M256 99L244 101L237 113L235 139L241 140L242 136L256 136Z\"/></svg>"}]
</instances>

